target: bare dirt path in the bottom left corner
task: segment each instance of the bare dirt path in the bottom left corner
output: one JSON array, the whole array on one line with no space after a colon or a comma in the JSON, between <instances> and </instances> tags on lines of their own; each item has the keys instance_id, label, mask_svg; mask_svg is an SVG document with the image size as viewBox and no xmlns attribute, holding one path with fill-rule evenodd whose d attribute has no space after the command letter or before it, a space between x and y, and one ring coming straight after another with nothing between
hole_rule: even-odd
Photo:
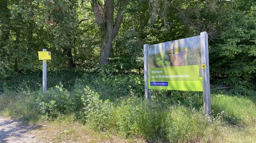
<instances>
[{"instance_id":1,"label":"bare dirt path in the bottom left corner","mask_svg":"<svg viewBox=\"0 0 256 143\"><path fill-rule=\"evenodd\" d=\"M34 126L0 116L0 143L38 142L33 133L30 132Z\"/></svg>"}]
</instances>

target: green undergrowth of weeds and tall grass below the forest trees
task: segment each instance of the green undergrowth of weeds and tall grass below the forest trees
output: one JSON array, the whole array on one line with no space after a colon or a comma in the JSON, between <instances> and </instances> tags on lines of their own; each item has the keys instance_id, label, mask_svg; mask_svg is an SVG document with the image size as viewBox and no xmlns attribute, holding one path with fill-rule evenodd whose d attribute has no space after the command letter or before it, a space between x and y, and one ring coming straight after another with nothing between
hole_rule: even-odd
<instances>
[{"instance_id":1,"label":"green undergrowth of weeds and tall grass below the forest trees","mask_svg":"<svg viewBox=\"0 0 256 143\"><path fill-rule=\"evenodd\" d=\"M83 124L94 132L142 137L150 142L229 142L228 134L232 132L239 137L237 141L256 141L253 95L212 93L213 116L207 117L203 114L200 92L152 90L152 101L144 100L141 75L91 69L72 80L52 76L55 78L49 80L54 81L49 81L52 84L46 93L37 84L30 84L40 81L39 76L18 78L25 81L23 84L2 84L1 115L33 123L40 119L55 122L71 116L70 122ZM72 132L76 131L70 129L65 134Z\"/></svg>"}]
</instances>

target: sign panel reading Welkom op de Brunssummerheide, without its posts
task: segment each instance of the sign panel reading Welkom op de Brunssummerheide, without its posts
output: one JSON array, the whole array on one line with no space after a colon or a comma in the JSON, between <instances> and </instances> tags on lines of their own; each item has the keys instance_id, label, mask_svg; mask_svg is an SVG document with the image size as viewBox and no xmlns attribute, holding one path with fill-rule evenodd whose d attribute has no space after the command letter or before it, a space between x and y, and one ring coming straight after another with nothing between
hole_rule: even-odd
<instances>
[{"instance_id":1,"label":"sign panel reading Welkom op de Brunssummerheide, without its posts","mask_svg":"<svg viewBox=\"0 0 256 143\"><path fill-rule=\"evenodd\" d=\"M200 36L147 47L148 88L203 91Z\"/></svg>"}]
</instances>

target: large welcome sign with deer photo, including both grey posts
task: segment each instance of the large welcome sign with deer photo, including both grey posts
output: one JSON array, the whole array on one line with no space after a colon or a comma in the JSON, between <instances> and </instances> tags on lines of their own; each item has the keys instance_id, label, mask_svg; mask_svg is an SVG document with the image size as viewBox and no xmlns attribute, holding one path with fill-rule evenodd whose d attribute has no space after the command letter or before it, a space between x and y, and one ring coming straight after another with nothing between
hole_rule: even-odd
<instances>
[{"instance_id":1,"label":"large welcome sign with deer photo, including both grey posts","mask_svg":"<svg viewBox=\"0 0 256 143\"><path fill-rule=\"evenodd\" d=\"M145 98L151 89L203 91L204 113L211 116L208 34L144 44Z\"/></svg>"}]
</instances>

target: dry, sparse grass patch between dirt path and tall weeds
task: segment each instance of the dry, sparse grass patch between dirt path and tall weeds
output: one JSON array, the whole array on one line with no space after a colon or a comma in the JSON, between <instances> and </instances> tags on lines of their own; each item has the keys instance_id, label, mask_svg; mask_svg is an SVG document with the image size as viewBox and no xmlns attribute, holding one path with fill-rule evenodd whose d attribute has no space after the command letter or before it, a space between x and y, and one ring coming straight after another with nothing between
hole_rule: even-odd
<instances>
[{"instance_id":1,"label":"dry, sparse grass patch between dirt path and tall weeds","mask_svg":"<svg viewBox=\"0 0 256 143\"><path fill-rule=\"evenodd\" d=\"M74 116L58 117L54 121L48 122L36 133L39 141L48 142L112 142L112 143L145 143L141 138L121 138L113 132L97 132L88 125L84 125L74 120Z\"/></svg>"}]
</instances>

